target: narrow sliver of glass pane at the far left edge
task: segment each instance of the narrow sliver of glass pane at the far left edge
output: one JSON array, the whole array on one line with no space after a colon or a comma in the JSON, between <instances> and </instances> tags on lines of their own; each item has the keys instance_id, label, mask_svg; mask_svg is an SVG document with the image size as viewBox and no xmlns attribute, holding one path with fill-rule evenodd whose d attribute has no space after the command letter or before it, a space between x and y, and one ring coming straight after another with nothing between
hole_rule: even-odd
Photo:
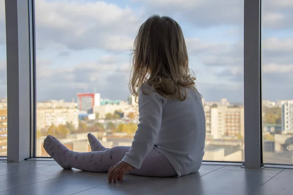
<instances>
[{"instance_id":1,"label":"narrow sliver of glass pane at the far left edge","mask_svg":"<svg viewBox=\"0 0 293 195\"><path fill-rule=\"evenodd\" d=\"M0 0L0 156L7 156L7 84L6 84L5 7Z\"/></svg>"}]
</instances>

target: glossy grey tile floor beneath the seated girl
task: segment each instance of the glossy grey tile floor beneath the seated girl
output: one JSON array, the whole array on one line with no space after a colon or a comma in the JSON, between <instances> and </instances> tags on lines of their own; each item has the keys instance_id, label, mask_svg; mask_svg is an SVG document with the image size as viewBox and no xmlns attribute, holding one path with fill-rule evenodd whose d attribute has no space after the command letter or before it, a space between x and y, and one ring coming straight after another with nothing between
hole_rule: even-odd
<instances>
[{"instance_id":1,"label":"glossy grey tile floor beneath the seated girl","mask_svg":"<svg viewBox=\"0 0 293 195\"><path fill-rule=\"evenodd\" d=\"M106 174L62 170L54 161L0 162L0 195L293 195L293 170L203 165L180 178L126 175L108 183Z\"/></svg>"}]
</instances>

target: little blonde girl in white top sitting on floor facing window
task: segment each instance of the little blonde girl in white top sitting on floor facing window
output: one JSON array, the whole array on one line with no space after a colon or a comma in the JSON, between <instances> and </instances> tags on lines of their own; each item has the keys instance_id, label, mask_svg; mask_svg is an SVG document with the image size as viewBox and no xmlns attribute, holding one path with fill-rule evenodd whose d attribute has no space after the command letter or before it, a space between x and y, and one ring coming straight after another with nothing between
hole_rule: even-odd
<instances>
[{"instance_id":1,"label":"little blonde girl in white top sitting on floor facing window","mask_svg":"<svg viewBox=\"0 0 293 195\"><path fill-rule=\"evenodd\" d=\"M181 27L169 17L152 16L134 41L129 89L139 99L139 124L131 147L105 148L91 134L92 152L73 152L52 136L43 147L63 169L108 172L114 183L128 172L160 177L195 173L204 156L206 123L194 80Z\"/></svg>"}]
</instances>

